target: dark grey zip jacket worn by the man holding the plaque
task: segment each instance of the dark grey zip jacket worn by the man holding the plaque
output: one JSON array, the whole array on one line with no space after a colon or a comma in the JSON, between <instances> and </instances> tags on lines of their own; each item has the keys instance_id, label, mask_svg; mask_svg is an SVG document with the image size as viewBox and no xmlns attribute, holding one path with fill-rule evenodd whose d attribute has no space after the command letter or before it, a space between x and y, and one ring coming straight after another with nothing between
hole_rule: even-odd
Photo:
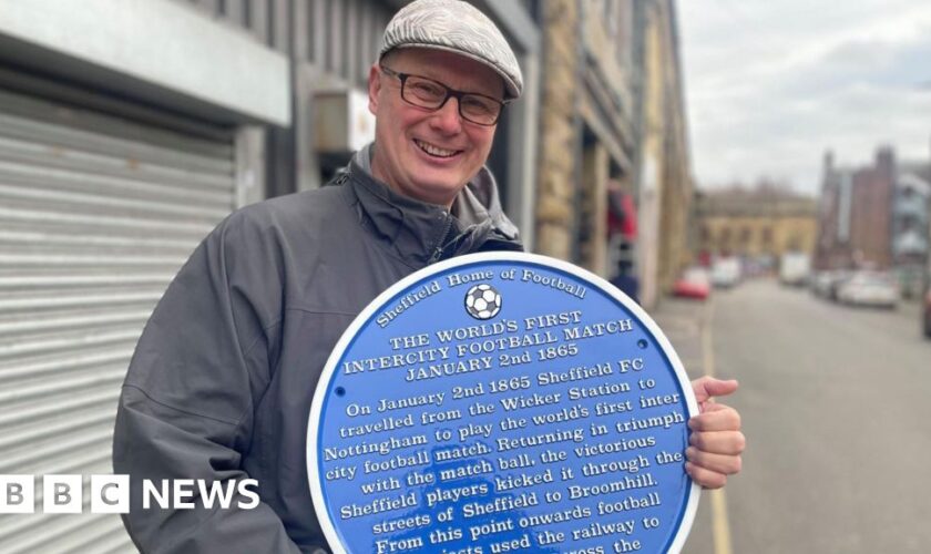
<instances>
[{"instance_id":1,"label":"dark grey zip jacket worn by the man holding the plaque","mask_svg":"<svg viewBox=\"0 0 931 554\"><path fill-rule=\"evenodd\" d=\"M383 289L464 253L520 249L482 170L448 214L395 194L367 151L327 186L227 217L158 302L120 397L113 468L142 552L327 548L306 475L307 418L331 348ZM142 480L256 479L260 504L142 509ZM200 504L197 499L194 502Z\"/></svg>"}]
</instances>

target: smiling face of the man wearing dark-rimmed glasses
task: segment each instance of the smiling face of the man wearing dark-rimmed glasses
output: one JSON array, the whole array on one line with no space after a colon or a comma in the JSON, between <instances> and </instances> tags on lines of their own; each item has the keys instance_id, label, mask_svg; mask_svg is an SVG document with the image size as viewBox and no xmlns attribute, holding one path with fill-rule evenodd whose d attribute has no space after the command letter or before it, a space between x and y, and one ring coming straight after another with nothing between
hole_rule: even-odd
<instances>
[{"instance_id":1,"label":"smiling face of the man wearing dark-rimmed glasses","mask_svg":"<svg viewBox=\"0 0 931 554\"><path fill-rule=\"evenodd\" d=\"M450 89L503 98L498 73L450 52L406 48L390 52L382 63ZM494 125L464 121L454 98L437 111L405 102L400 80L377 64L369 73L369 110L376 116L372 175L400 194L449 206L488 160Z\"/></svg>"}]
</instances>

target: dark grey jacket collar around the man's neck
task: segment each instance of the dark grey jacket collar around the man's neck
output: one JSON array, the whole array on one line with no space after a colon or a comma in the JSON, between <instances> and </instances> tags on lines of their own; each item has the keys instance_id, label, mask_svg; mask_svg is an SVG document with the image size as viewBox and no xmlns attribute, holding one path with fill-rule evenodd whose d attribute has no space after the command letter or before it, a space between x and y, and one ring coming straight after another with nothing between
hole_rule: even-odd
<instances>
[{"instance_id":1,"label":"dark grey jacket collar around the man's neck","mask_svg":"<svg viewBox=\"0 0 931 554\"><path fill-rule=\"evenodd\" d=\"M444 206L398 194L372 177L372 147L362 148L350 162L347 188L367 226L402 259L423 266L477 252L489 240L512 243L512 249L520 249L518 229L501 211L494 178L487 168L459 193L450 213Z\"/></svg>"}]
</instances>

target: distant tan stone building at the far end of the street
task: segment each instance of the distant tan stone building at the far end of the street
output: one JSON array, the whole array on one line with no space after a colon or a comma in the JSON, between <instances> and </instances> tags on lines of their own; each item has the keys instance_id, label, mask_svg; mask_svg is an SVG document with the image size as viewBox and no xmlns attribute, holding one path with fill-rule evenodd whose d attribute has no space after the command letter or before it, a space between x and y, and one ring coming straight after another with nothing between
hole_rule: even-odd
<instances>
[{"instance_id":1,"label":"distant tan stone building at the far end of the street","mask_svg":"<svg viewBox=\"0 0 931 554\"><path fill-rule=\"evenodd\" d=\"M776 188L730 188L702 192L695 204L702 257L775 260L787 252L815 252L815 198Z\"/></svg>"}]
</instances>

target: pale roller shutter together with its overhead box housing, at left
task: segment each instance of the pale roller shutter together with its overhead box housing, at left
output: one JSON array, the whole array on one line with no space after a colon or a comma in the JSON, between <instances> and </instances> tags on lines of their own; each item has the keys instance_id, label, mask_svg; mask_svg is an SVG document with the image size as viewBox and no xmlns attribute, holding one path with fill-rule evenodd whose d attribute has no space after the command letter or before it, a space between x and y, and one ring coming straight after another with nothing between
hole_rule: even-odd
<instances>
[{"instance_id":1,"label":"pale roller shutter together with its overhead box housing, at left","mask_svg":"<svg viewBox=\"0 0 931 554\"><path fill-rule=\"evenodd\" d=\"M1 474L80 474L86 491L112 471L143 325L204 235L265 196L289 82L286 55L191 6L4 2ZM134 551L115 515L43 513L37 484L0 552Z\"/></svg>"}]
</instances>

